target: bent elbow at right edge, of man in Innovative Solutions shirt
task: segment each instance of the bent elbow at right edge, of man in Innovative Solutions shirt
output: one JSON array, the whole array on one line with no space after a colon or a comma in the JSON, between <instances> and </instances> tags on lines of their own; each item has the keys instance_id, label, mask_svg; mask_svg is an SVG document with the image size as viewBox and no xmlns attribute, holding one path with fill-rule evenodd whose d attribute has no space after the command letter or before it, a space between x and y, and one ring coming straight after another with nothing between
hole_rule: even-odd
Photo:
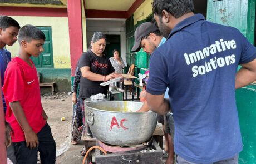
<instances>
[{"instance_id":1,"label":"bent elbow at right edge, of man in Innovative Solutions shirt","mask_svg":"<svg viewBox=\"0 0 256 164\"><path fill-rule=\"evenodd\" d=\"M256 81L256 59L252 62L241 64L242 68L239 69L235 76L235 89L249 85Z\"/></svg>"}]
</instances>

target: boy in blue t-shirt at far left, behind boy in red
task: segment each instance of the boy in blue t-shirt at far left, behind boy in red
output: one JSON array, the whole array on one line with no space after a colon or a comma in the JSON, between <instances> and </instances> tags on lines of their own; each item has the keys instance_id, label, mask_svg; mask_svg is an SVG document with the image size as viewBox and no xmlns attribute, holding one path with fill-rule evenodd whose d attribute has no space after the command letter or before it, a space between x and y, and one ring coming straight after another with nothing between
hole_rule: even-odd
<instances>
[{"instance_id":1,"label":"boy in blue t-shirt at far left, behind boy in red","mask_svg":"<svg viewBox=\"0 0 256 164\"><path fill-rule=\"evenodd\" d=\"M1 88L3 87L4 72L6 71L7 64L11 61L11 53L4 48L4 46L12 46L17 41L17 36L21 28L17 21L11 17L0 16L0 71L1 71ZM3 96L3 110L6 113L6 102Z\"/></svg>"}]
</instances>

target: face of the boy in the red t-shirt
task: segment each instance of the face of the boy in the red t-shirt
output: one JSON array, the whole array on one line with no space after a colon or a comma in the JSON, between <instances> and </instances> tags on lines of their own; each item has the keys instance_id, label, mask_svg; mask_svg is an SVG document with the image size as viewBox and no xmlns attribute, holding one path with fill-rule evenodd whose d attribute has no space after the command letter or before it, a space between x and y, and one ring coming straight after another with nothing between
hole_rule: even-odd
<instances>
[{"instance_id":1,"label":"face of the boy in the red t-shirt","mask_svg":"<svg viewBox=\"0 0 256 164\"><path fill-rule=\"evenodd\" d=\"M38 57L43 52L43 44L45 41L40 40L32 40L31 42L26 42L26 46L24 50L33 57Z\"/></svg>"}]
</instances>

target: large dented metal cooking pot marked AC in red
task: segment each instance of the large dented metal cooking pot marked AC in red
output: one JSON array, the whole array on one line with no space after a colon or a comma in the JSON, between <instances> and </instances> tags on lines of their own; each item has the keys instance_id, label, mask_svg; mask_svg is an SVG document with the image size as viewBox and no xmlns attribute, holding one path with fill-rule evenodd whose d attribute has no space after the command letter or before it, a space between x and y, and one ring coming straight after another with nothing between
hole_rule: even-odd
<instances>
[{"instance_id":1,"label":"large dented metal cooking pot marked AC in red","mask_svg":"<svg viewBox=\"0 0 256 164\"><path fill-rule=\"evenodd\" d=\"M99 101L86 105L87 122L93 136L111 145L136 145L154 133L157 114L136 112L142 102Z\"/></svg>"}]
</instances>

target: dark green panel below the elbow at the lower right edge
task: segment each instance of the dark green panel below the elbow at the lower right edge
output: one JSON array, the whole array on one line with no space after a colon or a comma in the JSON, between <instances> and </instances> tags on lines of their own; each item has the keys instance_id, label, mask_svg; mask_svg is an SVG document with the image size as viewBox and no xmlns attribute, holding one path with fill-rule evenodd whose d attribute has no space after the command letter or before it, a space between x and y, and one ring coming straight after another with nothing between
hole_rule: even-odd
<instances>
[{"instance_id":1,"label":"dark green panel below the elbow at the lower right edge","mask_svg":"<svg viewBox=\"0 0 256 164\"><path fill-rule=\"evenodd\" d=\"M256 84L235 91L243 151L239 163L256 163Z\"/></svg>"}]
</instances>

